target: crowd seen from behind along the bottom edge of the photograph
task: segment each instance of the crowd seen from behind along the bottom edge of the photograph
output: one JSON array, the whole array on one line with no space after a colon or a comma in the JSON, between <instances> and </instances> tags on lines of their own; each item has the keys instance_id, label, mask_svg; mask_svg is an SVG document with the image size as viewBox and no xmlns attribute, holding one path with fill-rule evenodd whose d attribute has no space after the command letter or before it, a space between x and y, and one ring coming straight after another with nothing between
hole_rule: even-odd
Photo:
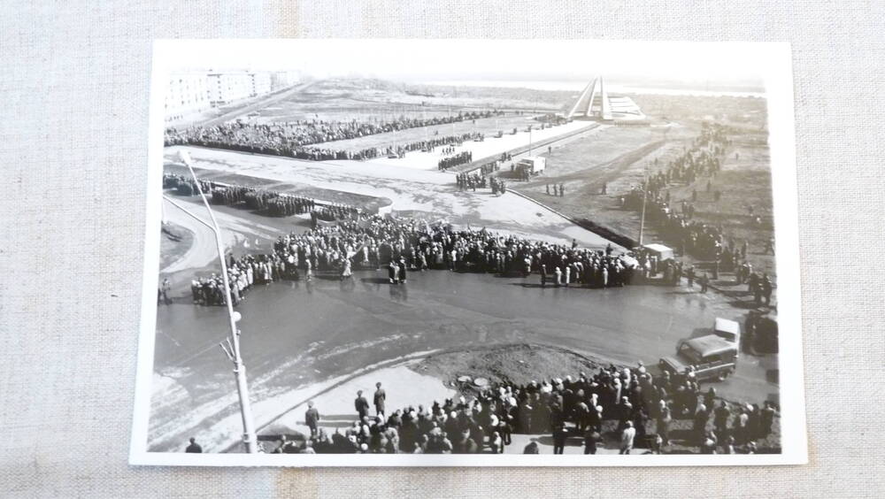
<instances>
[{"instance_id":1,"label":"crowd seen from behind along the bottom edge of the photograph","mask_svg":"<svg viewBox=\"0 0 885 499\"><path fill-rule=\"evenodd\" d=\"M715 388L702 390L690 373L652 376L642 363L527 384L469 385L462 392L470 395L396 411L387 411L381 383L376 388L374 415L358 391L355 421L331 434L320 427L319 410L309 403L304 420L310 435L297 443L283 436L273 452L497 454L512 445L513 434L550 434L554 454L564 453L573 437L584 454L612 443L620 454L635 448L666 453L677 441L705 454L752 454L768 450L757 442L773 433L778 411L770 402L760 407L722 400ZM674 426L680 426L678 438ZM540 446L531 441L521 451L537 454Z\"/></svg>"}]
</instances>

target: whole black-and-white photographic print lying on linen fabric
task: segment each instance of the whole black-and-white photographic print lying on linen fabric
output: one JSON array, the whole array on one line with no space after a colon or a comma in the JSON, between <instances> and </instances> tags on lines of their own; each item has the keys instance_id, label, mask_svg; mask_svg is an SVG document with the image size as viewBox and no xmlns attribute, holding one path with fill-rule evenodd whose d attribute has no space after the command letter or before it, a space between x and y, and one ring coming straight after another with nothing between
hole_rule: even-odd
<instances>
[{"instance_id":1,"label":"whole black-and-white photographic print lying on linen fabric","mask_svg":"<svg viewBox=\"0 0 885 499\"><path fill-rule=\"evenodd\" d=\"M132 464L807 460L789 45L158 41Z\"/></svg>"}]
</instances>

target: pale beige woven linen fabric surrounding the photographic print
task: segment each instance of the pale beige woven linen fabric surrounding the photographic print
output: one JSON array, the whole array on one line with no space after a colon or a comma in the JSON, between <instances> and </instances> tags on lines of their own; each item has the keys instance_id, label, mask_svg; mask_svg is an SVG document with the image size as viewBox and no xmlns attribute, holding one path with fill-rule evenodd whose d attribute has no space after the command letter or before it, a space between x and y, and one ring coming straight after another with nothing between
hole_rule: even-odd
<instances>
[{"instance_id":1,"label":"pale beige woven linen fabric surrounding the photographic print","mask_svg":"<svg viewBox=\"0 0 885 499\"><path fill-rule=\"evenodd\" d=\"M882 3L7 0L2 11L0 495L885 495ZM151 42L256 37L791 42L811 464L129 466Z\"/></svg>"}]
</instances>

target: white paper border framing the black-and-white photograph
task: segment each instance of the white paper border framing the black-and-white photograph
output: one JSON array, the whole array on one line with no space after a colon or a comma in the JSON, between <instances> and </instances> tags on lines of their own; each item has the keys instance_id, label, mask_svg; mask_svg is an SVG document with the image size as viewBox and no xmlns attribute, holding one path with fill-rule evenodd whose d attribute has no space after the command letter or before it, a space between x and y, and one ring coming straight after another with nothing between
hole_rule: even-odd
<instances>
[{"instance_id":1,"label":"white paper border framing the black-and-white photograph","mask_svg":"<svg viewBox=\"0 0 885 499\"><path fill-rule=\"evenodd\" d=\"M412 454L186 454L148 451L151 380L154 368L154 342L157 321L157 298L162 211L162 171L164 100L170 61L183 48L226 44L247 45L252 50L263 47L305 44L373 43L391 46L403 43L446 44L518 43L525 40L157 40L153 46L150 75L150 119L147 176L147 210L144 237L144 279L142 282L141 331L138 336L138 363L135 378L135 408L129 464L174 466L712 466L807 464L808 442L805 431L801 288L799 272L798 200L795 125L793 113L792 58L787 42L639 42L593 40L532 40L532 43L568 43L581 50L639 51L661 45L673 53L709 45L722 57L750 55L758 60L764 75L768 106L769 146L773 188L774 234L777 244L777 288L780 368L781 454L756 455L412 455ZM479 52L479 50L477 50ZM469 54L466 55L469 57Z\"/></svg>"}]
</instances>

